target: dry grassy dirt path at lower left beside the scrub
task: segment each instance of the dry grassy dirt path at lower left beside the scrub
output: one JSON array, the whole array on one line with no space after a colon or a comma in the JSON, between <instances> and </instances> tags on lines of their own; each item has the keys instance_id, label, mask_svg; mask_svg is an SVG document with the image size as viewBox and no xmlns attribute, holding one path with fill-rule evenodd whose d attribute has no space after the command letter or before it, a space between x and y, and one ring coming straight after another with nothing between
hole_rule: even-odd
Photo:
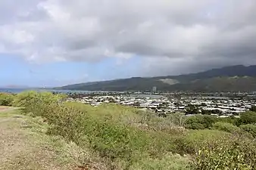
<instances>
[{"instance_id":1,"label":"dry grassy dirt path at lower left beside the scrub","mask_svg":"<svg viewBox=\"0 0 256 170\"><path fill-rule=\"evenodd\" d=\"M79 148L46 135L42 120L14 114L13 110L0 110L1 170L76 169Z\"/></svg>"}]
</instances>

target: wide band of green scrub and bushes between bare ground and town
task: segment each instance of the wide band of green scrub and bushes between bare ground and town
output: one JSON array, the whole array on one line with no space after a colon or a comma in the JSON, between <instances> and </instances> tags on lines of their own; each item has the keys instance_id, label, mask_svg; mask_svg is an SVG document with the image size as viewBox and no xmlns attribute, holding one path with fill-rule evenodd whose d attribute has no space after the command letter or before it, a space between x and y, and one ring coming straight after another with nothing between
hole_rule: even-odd
<instances>
[{"instance_id":1,"label":"wide band of green scrub and bushes between bare ground and town","mask_svg":"<svg viewBox=\"0 0 256 170\"><path fill-rule=\"evenodd\" d=\"M13 96L10 105L42 117L49 136L89 150L107 169L256 168L254 112L241 119L187 118L183 113L159 118L131 107L91 107L64 102L64 95L34 91Z\"/></svg>"}]
</instances>

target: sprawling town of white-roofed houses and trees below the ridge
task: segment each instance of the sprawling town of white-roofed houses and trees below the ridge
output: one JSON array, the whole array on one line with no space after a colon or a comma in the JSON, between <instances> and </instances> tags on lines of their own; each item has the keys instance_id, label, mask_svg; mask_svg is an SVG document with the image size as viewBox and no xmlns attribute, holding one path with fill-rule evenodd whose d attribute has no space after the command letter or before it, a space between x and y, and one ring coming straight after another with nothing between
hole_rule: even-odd
<instances>
[{"instance_id":1,"label":"sprawling town of white-roofed houses and trees below the ridge","mask_svg":"<svg viewBox=\"0 0 256 170\"><path fill-rule=\"evenodd\" d=\"M69 101L79 101L97 107L100 104L121 104L136 107L140 110L148 110L157 113L158 116L167 116L171 113L186 113L186 116L194 114L208 114L217 117L239 117L239 113L250 110L256 106L254 93L92 93L70 94Z\"/></svg>"}]
</instances>

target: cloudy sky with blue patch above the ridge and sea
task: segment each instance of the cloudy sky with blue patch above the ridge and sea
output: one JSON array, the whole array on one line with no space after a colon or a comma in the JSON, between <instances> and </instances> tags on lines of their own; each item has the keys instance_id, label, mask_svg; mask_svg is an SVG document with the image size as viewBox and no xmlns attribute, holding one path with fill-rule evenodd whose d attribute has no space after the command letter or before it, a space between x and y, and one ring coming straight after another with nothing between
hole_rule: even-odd
<instances>
[{"instance_id":1,"label":"cloudy sky with blue patch above the ridge and sea","mask_svg":"<svg viewBox=\"0 0 256 170\"><path fill-rule=\"evenodd\" d=\"M255 0L0 0L0 87L253 65L255 11Z\"/></svg>"}]
</instances>

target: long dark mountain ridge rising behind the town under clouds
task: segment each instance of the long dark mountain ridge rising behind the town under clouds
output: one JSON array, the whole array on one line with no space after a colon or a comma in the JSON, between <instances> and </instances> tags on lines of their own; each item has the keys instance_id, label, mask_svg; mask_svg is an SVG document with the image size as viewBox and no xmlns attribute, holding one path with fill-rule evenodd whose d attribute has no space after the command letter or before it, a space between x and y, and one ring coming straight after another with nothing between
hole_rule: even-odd
<instances>
[{"instance_id":1,"label":"long dark mountain ridge rising behind the town under clouds","mask_svg":"<svg viewBox=\"0 0 256 170\"><path fill-rule=\"evenodd\" d=\"M256 91L256 66L226 66L179 76L133 77L66 85L60 89L85 91Z\"/></svg>"}]
</instances>

